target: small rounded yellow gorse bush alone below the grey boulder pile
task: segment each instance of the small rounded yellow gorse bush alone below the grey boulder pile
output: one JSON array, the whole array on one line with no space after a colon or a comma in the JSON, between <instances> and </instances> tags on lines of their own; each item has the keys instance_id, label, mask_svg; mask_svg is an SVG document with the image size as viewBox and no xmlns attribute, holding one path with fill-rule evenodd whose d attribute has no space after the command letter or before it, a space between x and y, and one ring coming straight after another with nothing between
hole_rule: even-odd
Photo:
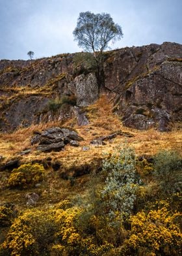
<instances>
[{"instance_id":1,"label":"small rounded yellow gorse bush alone below the grey boulder pile","mask_svg":"<svg viewBox=\"0 0 182 256\"><path fill-rule=\"evenodd\" d=\"M12 170L8 178L8 187L23 189L42 182L42 180L44 180L44 167L42 165L38 165L38 163L21 165Z\"/></svg>"}]
</instances>

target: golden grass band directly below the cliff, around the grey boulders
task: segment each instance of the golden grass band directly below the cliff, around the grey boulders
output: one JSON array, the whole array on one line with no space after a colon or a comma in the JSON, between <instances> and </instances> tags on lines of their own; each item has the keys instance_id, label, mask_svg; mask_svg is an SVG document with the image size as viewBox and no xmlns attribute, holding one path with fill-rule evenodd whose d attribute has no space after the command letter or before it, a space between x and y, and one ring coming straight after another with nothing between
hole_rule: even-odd
<instances>
[{"instance_id":1,"label":"golden grass band directly below the cliff, around the grey boulders","mask_svg":"<svg viewBox=\"0 0 182 256\"><path fill-rule=\"evenodd\" d=\"M10 159L16 156L25 148L31 148L32 153L23 156L23 161L31 161L32 159L44 159L51 156L53 159L61 159L66 165L72 163L88 162L93 157L102 157L103 152L112 152L118 144L128 142L129 146L135 148L137 155L148 154L153 155L162 149L178 150L181 152L181 131L171 131L168 133L160 133L155 129L148 131L138 131L123 127L120 118L112 113L112 105L108 103L107 97L103 95L95 104L85 109L88 113L90 125L79 127L74 125L79 135L85 139L80 143L79 148L66 146L65 151L41 153L35 150L35 146L31 146L32 132L35 130L44 130L53 125L59 126L59 122L42 123L40 125L31 125L31 127L18 129L14 133L6 133L0 135L0 155ZM74 120L67 121L64 125L73 124ZM117 136L112 142L107 142L106 146L90 146L90 141L99 136L109 135L114 131L125 131L132 133L134 136L126 138L125 136ZM83 152L83 146L90 146L90 150Z\"/></svg>"}]
</instances>

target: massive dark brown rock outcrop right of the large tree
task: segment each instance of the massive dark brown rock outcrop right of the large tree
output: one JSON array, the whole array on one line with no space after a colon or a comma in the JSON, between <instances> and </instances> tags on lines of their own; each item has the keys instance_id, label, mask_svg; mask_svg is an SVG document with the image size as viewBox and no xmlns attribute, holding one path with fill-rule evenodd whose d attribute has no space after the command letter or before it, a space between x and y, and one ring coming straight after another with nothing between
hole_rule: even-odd
<instances>
[{"instance_id":1,"label":"massive dark brown rock outcrop right of the large tree","mask_svg":"<svg viewBox=\"0 0 182 256\"><path fill-rule=\"evenodd\" d=\"M105 84L115 93L115 110L124 125L168 131L170 123L181 121L180 44L166 42L125 48L119 55L114 52L112 61L105 63L105 74Z\"/></svg>"}]
</instances>

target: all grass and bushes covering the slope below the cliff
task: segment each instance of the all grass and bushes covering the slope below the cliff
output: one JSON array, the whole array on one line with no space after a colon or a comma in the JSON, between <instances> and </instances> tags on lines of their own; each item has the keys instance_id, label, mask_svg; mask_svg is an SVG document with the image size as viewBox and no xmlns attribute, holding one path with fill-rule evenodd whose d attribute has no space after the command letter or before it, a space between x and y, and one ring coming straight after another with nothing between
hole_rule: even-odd
<instances>
[{"instance_id":1,"label":"all grass and bushes covering the slope below the cliff","mask_svg":"<svg viewBox=\"0 0 182 256\"><path fill-rule=\"evenodd\" d=\"M105 102L101 97L83 109L90 125L73 126L85 138L81 147L114 131L132 133L127 143L118 135L107 141L107 146L93 146L88 151L69 145L61 152L33 150L32 132L55 123L32 125L1 136L1 165L16 155L17 148L32 150L21 158L29 164L0 172L1 256L181 254L181 155L170 150L180 150L181 135L122 127L112 114L112 106ZM66 125L73 124L71 121ZM56 161L61 165L55 171ZM45 170L33 164L36 162L44 163ZM90 174L83 174L81 167L85 165L92 166ZM63 172L74 182L64 180ZM81 172L83 176L79 176ZM7 186L10 180L12 186ZM24 189L40 196L36 204L26 204ZM17 210L8 205L11 202Z\"/></svg>"}]
</instances>

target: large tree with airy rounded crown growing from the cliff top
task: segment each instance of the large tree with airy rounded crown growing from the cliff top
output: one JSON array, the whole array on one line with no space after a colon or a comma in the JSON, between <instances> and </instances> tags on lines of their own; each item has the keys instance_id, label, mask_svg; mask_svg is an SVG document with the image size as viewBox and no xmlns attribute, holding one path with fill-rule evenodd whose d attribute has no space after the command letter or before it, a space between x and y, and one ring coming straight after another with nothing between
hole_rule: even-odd
<instances>
[{"instance_id":1,"label":"large tree with airy rounded crown growing from the cliff top","mask_svg":"<svg viewBox=\"0 0 182 256\"><path fill-rule=\"evenodd\" d=\"M114 24L110 14L94 14L81 12L77 20L77 27L73 31L78 46L93 52L98 65L98 76L103 71L103 51L109 48L110 41L114 42L123 37L122 27Z\"/></svg>"}]
</instances>

